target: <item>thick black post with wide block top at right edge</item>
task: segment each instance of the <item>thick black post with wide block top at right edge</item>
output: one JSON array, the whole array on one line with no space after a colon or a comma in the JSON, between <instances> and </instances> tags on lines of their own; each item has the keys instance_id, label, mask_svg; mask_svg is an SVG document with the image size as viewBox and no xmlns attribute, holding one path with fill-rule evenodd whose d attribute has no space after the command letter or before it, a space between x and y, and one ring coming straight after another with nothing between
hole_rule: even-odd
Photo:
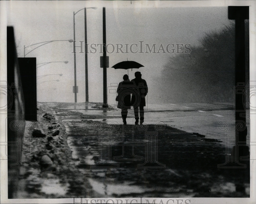
<instances>
[{"instance_id":1,"label":"thick black post with wide block top at right edge","mask_svg":"<svg viewBox=\"0 0 256 204\"><path fill-rule=\"evenodd\" d=\"M239 89L246 89L246 66L245 66L245 26L244 20L249 19L249 6L229 6L228 18L235 20L235 85ZM244 93L245 94L245 93ZM236 118L236 132L235 146L231 155L239 165L242 160L241 157L248 157L249 147L246 145L247 126L246 126L246 102L243 100L244 95L241 92L235 92L235 118ZM241 122L244 124L241 128ZM241 145L242 144L242 145ZM237 158L236 158L237 157ZM245 162L245 161L244 161ZM241 163L244 163L241 162ZM246 174L250 173L250 163L247 163L247 169L239 171L240 179L236 181L236 191L245 192L244 183ZM233 165L232 168L235 168ZM241 168L241 167L240 167ZM237 168L239 170L239 167ZM237 188L239 186L239 188Z\"/></svg>"}]
</instances>

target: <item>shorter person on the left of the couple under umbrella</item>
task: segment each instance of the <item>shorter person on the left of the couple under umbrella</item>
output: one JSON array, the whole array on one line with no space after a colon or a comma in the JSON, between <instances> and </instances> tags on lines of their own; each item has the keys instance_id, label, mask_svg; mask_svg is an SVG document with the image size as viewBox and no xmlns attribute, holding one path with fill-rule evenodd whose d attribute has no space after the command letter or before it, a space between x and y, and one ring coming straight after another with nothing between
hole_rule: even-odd
<instances>
[{"instance_id":1,"label":"shorter person on the left of the couple under umbrella","mask_svg":"<svg viewBox=\"0 0 256 204\"><path fill-rule=\"evenodd\" d=\"M118 85L116 101L118 101L117 107L121 109L123 123L126 125L128 109L131 109L131 88L133 84L130 82L127 74L123 76L123 80Z\"/></svg>"}]
</instances>

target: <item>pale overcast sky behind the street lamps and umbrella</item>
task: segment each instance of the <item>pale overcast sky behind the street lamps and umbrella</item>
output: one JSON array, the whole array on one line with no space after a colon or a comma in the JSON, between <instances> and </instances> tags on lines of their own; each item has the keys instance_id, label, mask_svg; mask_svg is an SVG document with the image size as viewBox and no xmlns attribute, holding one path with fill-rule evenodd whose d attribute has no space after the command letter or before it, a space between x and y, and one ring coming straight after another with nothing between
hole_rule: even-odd
<instances>
[{"instance_id":1,"label":"pale overcast sky behind the street lamps and umbrella","mask_svg":"<svg viewBox=\"0 0 256 204\"><path fill-rule=\"evenodd\" d=\"M120 2L119 2L120 3ZM133 3L133 2L132 2ZM157 92L157 81L155 76L160 76L161 70L170 56L170 53L136 53L130 52L131 44L134 45L133 52L140 52L140 43L152 47L156 44L156 52L162 44L164 49L170 43L200 45L199 40L206 32L222 29L230 24L228 20L228 7L154 7L141 5L134 7L130 1L118 4L110 2L106 6L106 43L114 44L115 51L108 53L109 66L107 68L107 84L119 83L122 81L127 70L115 70L113 65L124 60L133 60L144 65L143 68L129 70L130 80L134 78L135 71L141 71L149 87L148 102L151 95ZM15 29L17 52L23 57L23 47L31 44L50 40L73 39L73 11L84 7L97 7L87 9L87 35L89 44L102 43L102 6L101 2L86 1L10 1L7 7L7 24L13 25ZM84 10L75 15L76 41L84 41ZM128 45L129 53L116 53L116 45ZM79 42L76 46L80 45ZM68 41L52 42L41 46L26 57L36 57L37 63L50 61L69 61L69 63L50 63L38 68L38 75L50 75L38 80L39 101L63 101L74 102L72 86L74 85L74 56L72 54L73 43ZM34 47L31 46L31 49ZM99 48L99 46L98 46ZM108 46L109 52L112 46ZM172 47L169 47L169 49ZM30 48L26 48L26 53ZM85 101L85 69L84 53L79 53L76 48L77 85L79 93L78 102ZM84 51L84 47L83 47ZM92 50L93 51L93 50ZM89 72L89 101L103 102L103 74L100 68L100 50L88 54ZM166 52L166 50L165 50ZM57 80L59 82L44 82ZM108 95L108 103L113 104L115 95Z\"/></svg>"}]
</instances>

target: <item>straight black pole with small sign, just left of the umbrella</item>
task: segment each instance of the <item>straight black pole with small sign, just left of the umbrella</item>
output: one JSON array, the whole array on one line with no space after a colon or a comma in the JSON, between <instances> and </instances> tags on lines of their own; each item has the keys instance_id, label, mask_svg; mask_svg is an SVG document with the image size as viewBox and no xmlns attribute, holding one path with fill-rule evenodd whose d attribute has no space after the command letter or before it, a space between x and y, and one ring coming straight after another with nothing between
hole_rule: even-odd
<instances>
[{"instance_id":1,"label":"straight black pole with small sign, just left of the umbrella","mask_svg":"<svg viewBox=\"0 0 256 204\"><path fill-rule=\"evenodd\" d=\"M103 7L103 105L107 107L106 8Z\"/></svg>"}]
</instances>

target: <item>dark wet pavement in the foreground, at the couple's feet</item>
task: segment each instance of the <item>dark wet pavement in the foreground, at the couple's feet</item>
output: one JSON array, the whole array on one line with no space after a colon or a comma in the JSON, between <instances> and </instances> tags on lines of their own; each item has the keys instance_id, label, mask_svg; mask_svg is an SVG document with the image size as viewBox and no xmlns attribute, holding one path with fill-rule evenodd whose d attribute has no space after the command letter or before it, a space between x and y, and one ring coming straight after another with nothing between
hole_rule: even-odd
<instances>
[{"instance_id":1,"label":"dark wet pavement in the foreground, at the couple's feet","mask_svg":"<svg viewBox=\"0 0 256 204\"><path fill-rule=\"evenodd\" d=\"M120 112L86 110L84 103L76 108L72 103L44 105L56 111L56 119L65 126L75 168L88 178L94 197L249 197L248 161L243 161L247 168L218 168L226 162L221 139L198 137L167 126L167 120L135 126L132 114L123 126L116 117ZM211 112L216 115L231 111L218 107L200 110L217 111ZM204 113L197 109L193 112ZM146 114L157 118L159 113ZM173 112L171 120L175 120Z\"/></svg>"}]
</instances>

